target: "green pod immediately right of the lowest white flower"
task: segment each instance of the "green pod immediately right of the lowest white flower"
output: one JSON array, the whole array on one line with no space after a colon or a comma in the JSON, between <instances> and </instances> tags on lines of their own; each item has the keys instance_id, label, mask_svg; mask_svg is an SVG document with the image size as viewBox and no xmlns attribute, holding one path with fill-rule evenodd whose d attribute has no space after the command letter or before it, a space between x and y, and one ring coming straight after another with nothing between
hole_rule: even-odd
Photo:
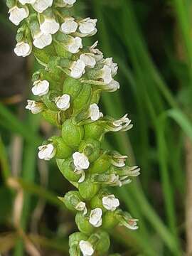
<instances>
[{"instance_id":1,"label":"green pod immediately right of the lowest white flower","mask_svg":"<svg viewBox=\"0 0 192 256\"><path fill-rule=\"evenodd\" d=\"M105 254L110 248L110 236L105 231L92 234L88 241L95 246L95 249L101 255Z\"/></svg>"}]
</instances>

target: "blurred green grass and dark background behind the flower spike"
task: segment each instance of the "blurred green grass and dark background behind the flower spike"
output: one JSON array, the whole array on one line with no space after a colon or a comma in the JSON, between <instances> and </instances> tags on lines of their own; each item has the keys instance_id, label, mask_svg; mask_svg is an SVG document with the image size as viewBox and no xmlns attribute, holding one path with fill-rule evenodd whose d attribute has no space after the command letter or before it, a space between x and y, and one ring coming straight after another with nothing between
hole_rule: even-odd
<instances>
[{"instance_id":1,"label":"blurred green grass and dark background behind the flower spike","mask_svg":"<svg viewBox=\"0 0 192 256\"><path fill-rule=\"evenodd\" d=\"M75 10L98 18L87 43L99 40L119 64L121 90L102 95L102 112L128 112L134 124L107 144L142 169L137 181L114 189L139 230L112 230L111 252L191 255L191 1L78 0ZM24 109L38 64L14 55L16 28L4 1L0 23L0 252L36 255L35 245L41 255L68 255L74 216L56 196L72 186L54 161L37 159L37 146L57 131Z\"/></svg>"}]
</instances>

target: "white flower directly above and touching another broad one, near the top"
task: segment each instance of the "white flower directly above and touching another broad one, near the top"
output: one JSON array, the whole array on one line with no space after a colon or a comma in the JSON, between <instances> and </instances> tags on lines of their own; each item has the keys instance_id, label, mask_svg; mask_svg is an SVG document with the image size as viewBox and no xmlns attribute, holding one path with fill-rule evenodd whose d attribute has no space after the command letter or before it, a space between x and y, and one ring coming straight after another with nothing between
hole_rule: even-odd
<instances>
[{"instance_id":1,"label":"white flower directly above and touching another broad one, near the top","mask_svg":"<svg viewBox=\"0 0 192 256\"><path fill-rule=\"evenodd\" d=\"M54 34L59 30L59 23L54 18L45 18L45 21L40 26L41 32L44 34Z\"/></svg>"}]
</instances>

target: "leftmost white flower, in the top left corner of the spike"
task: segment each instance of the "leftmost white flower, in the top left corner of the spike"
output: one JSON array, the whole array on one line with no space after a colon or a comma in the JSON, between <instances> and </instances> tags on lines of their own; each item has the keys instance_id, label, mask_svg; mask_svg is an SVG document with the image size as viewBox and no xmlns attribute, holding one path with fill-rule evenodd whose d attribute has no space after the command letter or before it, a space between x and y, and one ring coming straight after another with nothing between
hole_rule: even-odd
<instances>
[{"instance_id":1,"label":"leftmost white flower, in the top left corner of the spike","mask_svg":"<svg viewBox=\"0 0 192 256\"><path fill-rule=\"evenodd\" d=\"M29 11L27 7L18 8L17 6L14 6L9 10L9 14L9 20L18 26L24 18L28 17Z\"/></svg>"}]
</instances>

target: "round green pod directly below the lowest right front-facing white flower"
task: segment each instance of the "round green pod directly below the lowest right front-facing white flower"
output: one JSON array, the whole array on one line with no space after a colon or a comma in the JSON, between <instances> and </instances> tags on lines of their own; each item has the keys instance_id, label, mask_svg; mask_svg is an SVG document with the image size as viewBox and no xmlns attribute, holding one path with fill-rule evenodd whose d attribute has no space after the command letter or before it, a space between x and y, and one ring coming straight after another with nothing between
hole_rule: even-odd
<instances>
[{"instance_id":1,"label":"round green pod directly below the lowest right front-facing white flower","mask_svg":"<svg viewBox=\"0 0 192 256\"><path fill-rule=\"evenodd\" d=\"M102 216L102 228L105 230L112 230L119 224L119 220L116 218L115 211L107 210Z\"/></svg>"}]
</instances>

